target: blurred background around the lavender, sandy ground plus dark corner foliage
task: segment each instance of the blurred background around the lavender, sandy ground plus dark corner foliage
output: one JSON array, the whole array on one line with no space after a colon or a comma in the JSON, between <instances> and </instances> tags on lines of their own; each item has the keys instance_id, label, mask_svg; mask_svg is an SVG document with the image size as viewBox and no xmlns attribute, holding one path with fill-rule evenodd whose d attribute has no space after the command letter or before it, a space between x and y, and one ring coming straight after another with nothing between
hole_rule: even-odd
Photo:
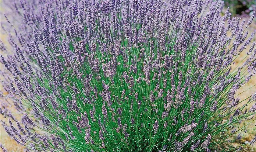
<instances>
[{"instance_id":1,"label":"blurred background around the lavender, sandy ground plus dark corner foliage","mask_svg":"<svg viewBox=\"0 0 256 152\"><path fill-rule=\"evenodd\" d=\"M8 0L0 0L0 23L2 24L3 22L5 22L5 17L4 14L5 13L9 13L12 10L8 10L8 8L4 7L5 4L4 2L8 2ZM12 1L12 0L9 0ZM229 7L230 12L233 14L233 17L240 17L245 20L248 20L250 18L250 15L253 11L256 10L256 0L224 0L224 4L225 4L225 9L227 9ZM224 10L225 11L225 10ZM222 12L225 13L225 12ZM256 19L254 18L253 23L251 24L251 26L249 28L247 28L249 34L250 35L253 30L256 29ZM6 36L6 33L3 32L2 28L0 28L0 40L7 46L8 48L8 37ZM253 42L255 41L255 37L254 39L251 41ZM247 51L249 50L249 48L251 47L251 45L248 45L247 48L240 54L239 57L236 58L235 60L235 64L233 65L233 67L236 67L242 60L244 60L244 57L246 56ZM3 53L2 50L0 52L1 54ZM6 54L5 54L6 55ZM4 67L2 65L0 65L0 72ZM0 76L0 79L2 79L2 77ZM246 85L244 85L243 87L241 87L236 95L238 95L240 97L241 100L247 98L248 96L251 96L252 94L255 93L256 91L256 75L254 75L253 78L251 78L251 80L249 81L249 83L247 83ZM2 91L2 94L6 94L7 92L5 92L5 90L2 87L2 84L0 84L0 90ZM0 106L12 106L12 103L8 103L8 99L1 99L0 98ZM244 105L247 102L247 100L245 100L244 102L240 103L240 106ZM13 113L14 116L16 118L19 118L19 113L16 112L16 109L13 108ZM4 127L3 127L3 123L8 122L7 118L4 118L4 116L0 115L0 143L2 143L2 145L7 148L7 150L9 151L13 151L13 152L23 152L26 151L25 147L17 144L14 140L12 140L8 134L5 132ZM242 136L242 140L237 141L235 143L229 143L229 141L227 140L227 146L230 144L233 144L233 146L239 146L241 144L244 143L248 143L251 141L251 139L255 136L256 134L256 122L251 121L251 122L246 122L248 125L245 128L245 130L248 128L248 130L252 130L252 131L248 131L248 132L240 132L241 136ZM232 137L231 137L232 138ZM233 137L235 138L235 137ZM2 149L0 149L0 151L2 152ZM243 151L256 151L256 144L254 144L254 146L250 147L248 146L247 148L245 148Z\"/></svg>"}]
</instances>

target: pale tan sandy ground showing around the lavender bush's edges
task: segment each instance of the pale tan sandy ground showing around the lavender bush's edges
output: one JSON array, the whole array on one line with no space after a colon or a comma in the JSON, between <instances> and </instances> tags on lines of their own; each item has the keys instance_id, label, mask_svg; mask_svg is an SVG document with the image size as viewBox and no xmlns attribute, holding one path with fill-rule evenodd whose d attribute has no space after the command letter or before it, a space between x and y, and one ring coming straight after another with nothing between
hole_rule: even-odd
<instances>
[{"instance_id":1,"label":"pale tan sandy ground showing around the lavender bush's edges","mask_svg":"<svg viewBox=\"0 0 256 152\"><path fill-rule=\"evenodd\" d=\"M0 0L0 22L2 22L2 20L4 19L2 13L3 13L3 9L1 7L1 0ZM256 29L256 23L254 22L253 25L251 25L251 27L248 29L249 30L249 35L250 35L250 32L253 31L253 29ZM3 34L3 32L1 31L2 29L0 28L0 39L3 41L3 43L7 44L7 40L6 40L6 35ZM255 38L254 38L255 40ZM253 40L252 40L253 41ZM249 47L247 47L246 50L244 50L242 52L242 54L240 55L240 57L238 57L236 60L235 60L235 66L240 63L241 60L244 59L244 57L246 56L246 52L247 50L250 48L251 45L249 45ZM1 65L0 65L1 66ZM4 68L4 67L0 67L0 70ZM1 78L0 78L1 79ZM253 85L256 84L256 75L254 75L254 77L251 78L251 80L249 81L249 83L247 83L246 85L244 85L243 87L241 87L236 95L238 95L241 100L247 98L248 96L252 95L255 93L256 91L256 86L252 87ZM252 87L252 88L250 88ZM250 88L250 89L248 89ZM2 88L2 85L0 84L0 89L3 90ZM246 91L245 91L246 90ZM245 91L245 92L244 92ZM243 92L243 93L241 93ZM6 92L4 92L6 93ZM241 94L240 94L241 93ZM1 102L5 102L4 100L0 99ZM246 103L247 101L244 101L242 103L240 103L239 106L241 105L244 105L244 103ZM13 111L16 111L15 109L13 109ZM16 113L16 112L15 112ZM16 113L15 114L16 117L19 117L19 114ZM4 122L8 122L8 119L4 118L2 115L0 115L0 120L4 121ZM256 134L256 128L255 128L255 125L256 125L256 121L254 122L251 122L251 124L249 124L247 126L248 130L250 130L251 128L254 128L252 132L250 133L244 133L244 132L241 132L241 135L242 135L242 140L234 145L239 145L239 144L243 144L247 141L250 141L253 136ZM5 132L4 128L2 125L0 125L0 143L2 143L4 145L4 147L6 147L9 151L14 151L14 152L22 152L22 151L25 151L25 147L21 146L20 144L17 144L14 140L12 140L8 134ZM254 144L253 146L253 149L246 149L244 151L252 151L252 150L256 150L256 144ZM0 149L0 151L2 151L2 149Z\"/></svg>"}]
</instances>

